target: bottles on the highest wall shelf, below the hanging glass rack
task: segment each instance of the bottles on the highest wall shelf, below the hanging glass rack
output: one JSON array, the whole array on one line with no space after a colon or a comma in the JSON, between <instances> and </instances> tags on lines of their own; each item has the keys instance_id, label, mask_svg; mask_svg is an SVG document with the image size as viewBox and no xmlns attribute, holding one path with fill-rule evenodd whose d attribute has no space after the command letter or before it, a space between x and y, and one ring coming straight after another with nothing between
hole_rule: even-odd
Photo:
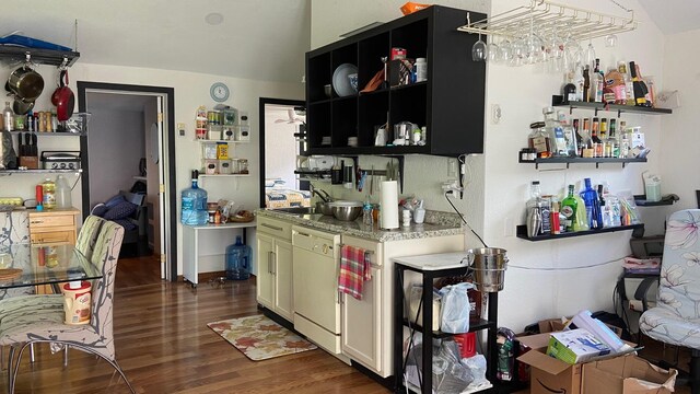
<instances>
[{"instance_id":1,"label":"bottles on the highest wall shelf, below the hanging glass rack","mask_svg":"<svg viewBox=\"0 0 700 394\"><path fill-rule=\"evenodd\" d=\"M625 61L619 61L617 68L611 67L604 73L600 59L595 59L593 65L585 65L579 71L581 73L568 76L568 83L563 86L564 103L654 106L654 81L651 78L642 78L634 61L629 62L629 68Z\"/></svg>"}]
</instances>

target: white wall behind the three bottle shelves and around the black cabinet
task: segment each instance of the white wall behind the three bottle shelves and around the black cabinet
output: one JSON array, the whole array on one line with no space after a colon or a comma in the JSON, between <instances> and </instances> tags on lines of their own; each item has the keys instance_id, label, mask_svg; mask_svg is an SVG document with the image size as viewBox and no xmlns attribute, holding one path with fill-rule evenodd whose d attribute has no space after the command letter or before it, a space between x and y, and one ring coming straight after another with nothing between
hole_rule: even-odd
<instances>
[{"instance_id":1,"label":"white wall behind the three bottle shelves and around the black cabinet","mask_svg":"<svg viewBox=\"0 0 700 394\"><path fill-rule=\"evenodd\" d=\"M563 2L582 7L575 1ZM402 3L392 0L312 1L312 47L334 42L338 39L338 34L376 20L399 18L398 8ZM488 11L488 7L492 7L489 13L494 14L524 4L520 0L498 0L487 2L485 10L485 1L435 3L475 11ZM635 16L642 23L635 32L619 34L615 48L605 48L603 38L593 40L603 66L607 67L619 59L635 60L644 76L663 76L663 35L639 4L631 1L626 5L635 10ZM607 0L588 1L585 7L611 14L622 12ZM621 271L620 258L630 252L629 231L546 242L515 237L514 225L524 223L528 183L539 179L545 193L560 194L567 184L592 177L594 183L608 182L612 190L628 189L641 194L641 172L658 172L663 158L661 117L625 114L622 119L628 125L640 125L646 132L652 154L645 164L629 164L625 169L612 164L603 164L599 169L573 164L569 170L555 166L555 171L549 171L552 166L542 166L537 171L533 165L518 164L517 152L527 144L528 125L541 120L542 107L550 104L552 94L560 93L562 82L563 77L546 74L541 66L487 66L485 154L467 158L471 181L467 184L466 198L456 201L457 208L483 235L489 246L508 251L510 266L505 290L500 293L499 324L516 332L539 318L573 314L581 309L611 310L614 285ZM491 104L499 104L502 108L503 118L498 125L489 121L488 108ZM586 112L574 115L593 116ZM606 115L615 116L611 113ZM407 189L425 196L429 208L450 210L439 192L440 183L447 177L446 170L444 158L407 157ZM663 228L663 215L653 209L641 209L648 228L651 228L648 233L658 232ZM660 216L661 221L657 219ZM479 245L472 241L468 246Z\"/></svg>"}]
</instances>

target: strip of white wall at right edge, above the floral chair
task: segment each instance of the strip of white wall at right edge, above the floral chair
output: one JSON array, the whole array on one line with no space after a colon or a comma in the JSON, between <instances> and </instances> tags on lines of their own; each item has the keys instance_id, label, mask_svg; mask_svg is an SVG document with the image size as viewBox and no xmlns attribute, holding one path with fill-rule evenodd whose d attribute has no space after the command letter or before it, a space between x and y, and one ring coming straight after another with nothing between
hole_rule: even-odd
<instances>
[{"instance_id":1,"label":"strip of white wall at right edge, above the floral chair","mask_svg":"<svg viewBox=\"0 0 700 394\"><path fill-rule=\"evenodd\" d=\"M675 193L680 200L665 209L665 213L684 208L697 208L696 190L700 189L698 172L698 113L700 104L693 100L700 90L700 51L697 43L700 30L675 34L666 37L664 54L664 90L678 90L681 107L674 109L673 116L662 119L662 193Z\"/></svg>"}]
</instances>

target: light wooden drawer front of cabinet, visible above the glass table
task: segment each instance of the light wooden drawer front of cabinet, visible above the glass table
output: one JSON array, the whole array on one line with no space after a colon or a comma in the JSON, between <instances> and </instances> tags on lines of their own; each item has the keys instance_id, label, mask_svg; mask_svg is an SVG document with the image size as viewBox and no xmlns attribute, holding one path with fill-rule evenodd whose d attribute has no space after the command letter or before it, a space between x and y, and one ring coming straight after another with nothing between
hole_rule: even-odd
<instances>
[{"instance_id":1,"label":"light wooden drawer front of cabinet, visible above the glass table","mask_svg":"<svg viewBox=\"0 0 700 394\"><path fill-rule=\"evenodd\" d=\"M30 239L33 244L74 244L78 235L78 216L74 208L30 212Z\"/></svg>"}]
</instances>

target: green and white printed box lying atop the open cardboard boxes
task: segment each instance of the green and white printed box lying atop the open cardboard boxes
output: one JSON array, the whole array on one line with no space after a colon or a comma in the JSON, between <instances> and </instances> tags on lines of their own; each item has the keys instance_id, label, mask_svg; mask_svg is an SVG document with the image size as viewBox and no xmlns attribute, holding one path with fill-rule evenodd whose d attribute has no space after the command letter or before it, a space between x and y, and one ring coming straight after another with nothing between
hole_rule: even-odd
<instances>
[{"instance_id":1,"label":"green and white printed box lying atop the open cardboard boxes","mask_svg":"<svg viewBox=\"0 0 700 394\"><path fill-rule=\"evenodd\" d=\"M587 329L576 328L552 333L547 346L547 356L574 364L609 355L610 350Z\"/></svg>"}]
</instances>

